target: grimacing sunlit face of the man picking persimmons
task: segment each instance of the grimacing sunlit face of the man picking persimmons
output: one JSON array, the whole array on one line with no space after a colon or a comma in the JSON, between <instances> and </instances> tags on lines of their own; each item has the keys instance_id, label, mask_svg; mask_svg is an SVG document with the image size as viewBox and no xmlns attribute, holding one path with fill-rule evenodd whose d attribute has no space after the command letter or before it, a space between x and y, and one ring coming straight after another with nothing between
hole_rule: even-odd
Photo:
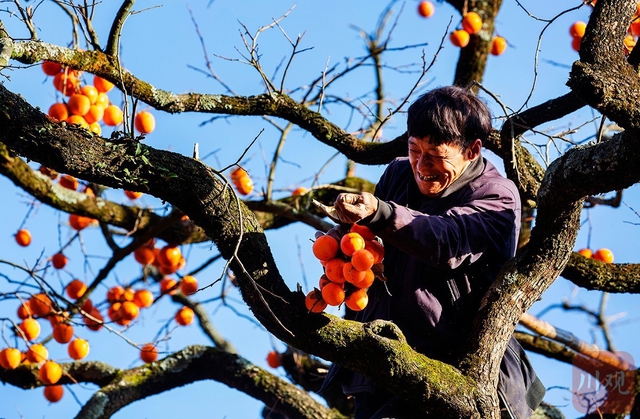
<instances>
[{"instance_id":1,"label":"grimacing sunlit face of the man picking persimmons","mask_svg":"<svg viewBox=\"0 0 640 419\"><path fill-rule=\"evenodd\" d=\"M429 137L409 137L409 161L423 195L439 196L478 157L482 142L475 140L464 152L452 144L431 144Z\"/></svg>"}]
</instances>

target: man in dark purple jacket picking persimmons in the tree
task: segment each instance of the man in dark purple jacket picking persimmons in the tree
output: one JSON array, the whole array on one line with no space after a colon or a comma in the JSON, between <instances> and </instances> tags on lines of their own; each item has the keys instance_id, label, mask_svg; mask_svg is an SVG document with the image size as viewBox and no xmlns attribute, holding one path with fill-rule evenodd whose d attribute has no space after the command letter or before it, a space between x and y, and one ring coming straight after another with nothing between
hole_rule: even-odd
<instances>
[{"instance_id":1,"label":"man in dark purple jacket picking persimmons in the tree","mask_svg":"<svg viewBox=\"0 0 640 419\"><path fill-rule=\"evenodd\" d=\"M518 243L516 186L480 153L490 131L489 109L472 92L432 90L409 107L409 156L387 167L375 195L341 194L335 202L342 222L368 226L385 244L388 280L376 281L355 319L393 321L416 350L453 365L482 296ZM334 382L355 397L356 419L423 416L360 374L334 366L325 387ZM529 417L544 394L513 338L498 387L506 418Z\"/></svg>"}]
</instances>

